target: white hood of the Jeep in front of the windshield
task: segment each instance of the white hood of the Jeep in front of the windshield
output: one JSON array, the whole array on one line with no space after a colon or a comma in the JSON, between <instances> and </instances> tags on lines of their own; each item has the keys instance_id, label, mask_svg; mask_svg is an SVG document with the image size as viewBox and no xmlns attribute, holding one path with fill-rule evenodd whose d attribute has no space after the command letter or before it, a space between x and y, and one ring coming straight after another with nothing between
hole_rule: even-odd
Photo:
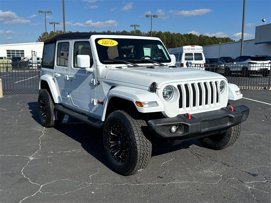
<instances>
[{"instance_id":1,"label":"white hood of the Jeep in front of the windshield","mask_svg":"<svg viewBox=\"0 0 271 203\"><path fill-rule=\"evenodd\" d=\"M156 82L158 89L165 83L225 78L217 73L194 68L147 67L149 66L112 69L108 72L106 78L146 87L150 87L151 83Z\"/></svg>"}]
</instances>

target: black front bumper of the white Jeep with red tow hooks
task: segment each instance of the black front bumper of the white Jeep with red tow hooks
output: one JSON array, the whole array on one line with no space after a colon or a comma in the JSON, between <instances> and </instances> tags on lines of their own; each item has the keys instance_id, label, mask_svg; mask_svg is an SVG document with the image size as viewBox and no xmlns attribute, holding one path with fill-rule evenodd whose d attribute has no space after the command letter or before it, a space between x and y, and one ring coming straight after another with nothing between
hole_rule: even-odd
<instances>
[{"instance_id":1,"label":"black front bumper of the white Jeep with red tow hooks","mask_svg":"<svg viewBox=\"0 0 271 203\"><path fill-rule=\"evenodd\" d=\"M207 136L215 133L222 133L229 127L244 122L249 115L249 107L245 105L224 107L210 112L191 114L188 119L187 114L179 114L173 118L149 120L148 126L154 135L158 137L178 137L188 139L192 137ZM170 127L176 125L176 133L170 133Z\"/></svg>"}]
</instances>

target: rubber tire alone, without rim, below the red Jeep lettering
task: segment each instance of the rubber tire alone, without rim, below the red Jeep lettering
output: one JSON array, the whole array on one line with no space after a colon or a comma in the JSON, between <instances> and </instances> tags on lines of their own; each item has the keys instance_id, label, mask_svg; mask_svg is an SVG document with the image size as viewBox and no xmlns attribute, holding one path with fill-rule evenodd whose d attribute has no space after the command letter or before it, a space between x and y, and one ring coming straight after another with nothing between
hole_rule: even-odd
<instances>
[{"instance_id":1,"label":"rubber tire alone, without rim, below the red Jeep lettering","mask_svg":"<svg viewBox=\"0 0 271 203\"><path fill-rule=\"evenodd\" d=\"M123 162L117 161L110 151L109 133L116 125L124 130L127 140L127 158ZM132 175L142 171L149 163L152 150L149 129L147 122L138 113L128 110L112 112L105 121L103 135L107 158L119 174Z\"/></svg>"}]
</instances>

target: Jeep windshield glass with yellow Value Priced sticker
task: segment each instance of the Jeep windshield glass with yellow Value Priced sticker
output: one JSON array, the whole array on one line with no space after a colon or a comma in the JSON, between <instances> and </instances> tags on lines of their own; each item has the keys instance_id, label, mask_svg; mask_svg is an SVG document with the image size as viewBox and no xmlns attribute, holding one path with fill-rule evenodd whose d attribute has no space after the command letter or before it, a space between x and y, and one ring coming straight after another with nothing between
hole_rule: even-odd
<instances>
[{"instance_id":1,"label":"Jeep windshield glass with yellow Value Priced sticker","mask_svg":"<svg viewBox=\"0 0 271 203\"><path fill-rule=\"evenodd\" d=\"M99 60L104 64L110 64L112 60L136 61L136 63L146 63L140 61L141 59L151 59L160 63L171 61L162 42L158 40L99 38L95 40L95 44ZM143 58L144 56L146 57ZM124 62L114 61L114 63Z\"/></svg>"}]
</instances>

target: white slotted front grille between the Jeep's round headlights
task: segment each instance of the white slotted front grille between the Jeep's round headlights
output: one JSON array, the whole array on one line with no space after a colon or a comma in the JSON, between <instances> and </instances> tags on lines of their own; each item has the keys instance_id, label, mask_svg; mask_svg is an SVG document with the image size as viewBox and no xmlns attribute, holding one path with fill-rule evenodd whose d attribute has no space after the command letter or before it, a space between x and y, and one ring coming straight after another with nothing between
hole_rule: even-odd
<instances>
[{"instance_id":1,"label":"white slotted front grille between the Jeep's round headlights","mask_svg":"<svg viewBox=\"0 0 271 203\"><path fill-rule=\"evenodd\" d=\"M179 109L193 108L199 106L214 105L219 103L218 81L186 83L177 85L180 98ZM190 101L192 99L192 102ZM183 106L183 104L185 104ZM192 106L191 106L192 104Z\"/></svg>"}]
</instances>

